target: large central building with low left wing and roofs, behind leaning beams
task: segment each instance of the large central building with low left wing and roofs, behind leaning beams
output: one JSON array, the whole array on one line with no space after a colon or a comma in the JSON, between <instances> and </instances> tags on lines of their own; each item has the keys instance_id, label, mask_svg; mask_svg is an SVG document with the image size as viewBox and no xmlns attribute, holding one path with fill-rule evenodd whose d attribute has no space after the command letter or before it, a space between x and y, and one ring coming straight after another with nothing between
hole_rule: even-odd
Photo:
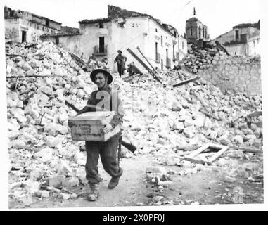
<instances>
[{"instance_id":1,"label":"large central building with low left wing and roofs, behind leaning beams","mask_svg":"<svg viewBox=\"0 0 268 225\"><path fill-rule=\"evenodd\" d=\"M41 39L62 44L85 58L92 53L97 59L108 58L108 65L114 71L117 66L113 61L119 49L127 57L127 63L134 62L141 68L127 51L131 49L143 60L136 49L139 46L153 67L161 70L173 68L174 62L187 53L186 39L172 25L115 6L108 6L107 18L79 21L79 33L44 34Z\"/></svg>"}]
</instances>

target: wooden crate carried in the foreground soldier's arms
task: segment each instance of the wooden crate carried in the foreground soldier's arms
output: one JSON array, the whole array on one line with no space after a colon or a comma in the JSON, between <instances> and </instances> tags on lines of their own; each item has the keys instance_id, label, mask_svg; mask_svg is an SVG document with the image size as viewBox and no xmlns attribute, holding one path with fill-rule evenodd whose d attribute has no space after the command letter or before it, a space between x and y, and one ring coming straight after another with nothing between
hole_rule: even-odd
<instances>
[{"instance_id":1,"label":"wooden crate carried in the foreground soldier's arms","mask_svg":"<svg viewBox=\"0 0 268 225\"><path fill-rule=\"evenodd\" d=\"M108 132L101 134L103 125L108 124L115 115L114 111L88 112L77 115L68 120L71 128L73 141L107 141L120 132L120 127L116 126Z\"/></svg>"}]
</instances>

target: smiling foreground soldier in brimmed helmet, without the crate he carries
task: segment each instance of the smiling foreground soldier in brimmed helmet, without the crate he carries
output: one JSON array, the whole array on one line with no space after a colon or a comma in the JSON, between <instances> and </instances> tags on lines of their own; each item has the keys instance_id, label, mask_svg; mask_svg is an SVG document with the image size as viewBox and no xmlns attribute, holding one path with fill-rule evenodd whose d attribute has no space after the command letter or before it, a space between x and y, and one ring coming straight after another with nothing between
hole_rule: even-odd
<instances>
[{"instance_id":1,"label":"smiling foreground soldier in brimmed helmet, without the crate he carries","mask_svg":"<svg viewBox=\"0 0 268 225\"><path fill-rule=\"evenodd\" d=\"M91 93L87 105L80 110L77 115L103 110L115 111L112 120L102 129L103 134L108 134L122 122L124 115L122 102L118 98L117 91L113 91L109 86L109 84L113 82L113 76L110 72L103 69L96 69L91 72L90 77L92 82L98 86L98 90ZM86 178L91 188L87 199L90 201L94 201L98 198L100 183L102 181L101 176L98 174L99 155L101 155L103 168L112 176L108 188L115 188L119 182L120 176L122 176L123 170L117 160L119 139L120 132L112 136L108 141L86 141Z\"/></svg>"}]
</instances>

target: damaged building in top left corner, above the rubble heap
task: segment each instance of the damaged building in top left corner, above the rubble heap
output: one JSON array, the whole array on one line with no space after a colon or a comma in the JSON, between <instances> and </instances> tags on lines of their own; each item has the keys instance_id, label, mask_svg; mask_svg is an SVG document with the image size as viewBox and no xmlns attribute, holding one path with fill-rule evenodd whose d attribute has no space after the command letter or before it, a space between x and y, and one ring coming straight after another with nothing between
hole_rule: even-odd
<instances>
[{"instance_id":1,"label":"damaged building in top left corner, above the rubble heap","mask_svg":"<svg viewBox=\"0 0 268 225\"><path fill-rule=\"evenodd\" d=\"M56 34L61 23L29 13L4 7L5 38L9 41L37 41L42 34Z\"/></svg>"}]
</instances>

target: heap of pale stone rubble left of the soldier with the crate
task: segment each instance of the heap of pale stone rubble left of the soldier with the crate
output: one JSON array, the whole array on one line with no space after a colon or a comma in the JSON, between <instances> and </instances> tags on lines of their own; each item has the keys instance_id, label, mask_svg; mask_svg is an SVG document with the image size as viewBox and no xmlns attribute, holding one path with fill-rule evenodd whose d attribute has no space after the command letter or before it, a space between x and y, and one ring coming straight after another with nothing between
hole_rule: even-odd
<instances>
[{"instance_id":1,"label":"heap of pale stone rubble left of the soldier with the crate","mask_svg":"<svg viewBox=\"0 0 268 225\"><path fill-rule=\"evenodd\" d=\"M82 108L96 87L65 49L52 42L25 46L6 44L11 198L71 198L55 188L87 182L85 154L72 143L68 127L76 112L65 101Z\"/></svg>"}]
</instances>

